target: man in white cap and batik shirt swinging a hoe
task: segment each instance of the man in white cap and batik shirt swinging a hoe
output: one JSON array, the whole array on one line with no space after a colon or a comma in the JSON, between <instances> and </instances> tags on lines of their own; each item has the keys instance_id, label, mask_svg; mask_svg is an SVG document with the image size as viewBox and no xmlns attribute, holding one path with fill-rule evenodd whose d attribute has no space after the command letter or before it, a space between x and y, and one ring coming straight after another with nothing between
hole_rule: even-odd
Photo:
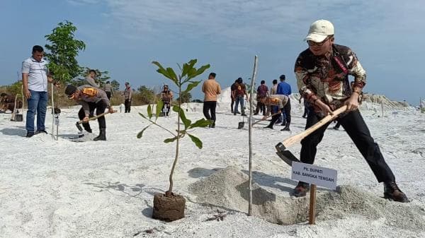
<instances>
[{"instance_id":1,"label":"man in white cap and batik shirt swinging a hoe","mask_svg":"<svg viewBox=\"0 0 425 238\"><path fill-rule=\"evenodd\" d=\"M334 25L329 20L317 20L310 25L308 48L295 61L295 76L302 97L312 105L307 115L305 129L314 125L327 114L346 105L346 112L338 121L365 158L378 182L384 184L384 196L393 201L409 202L399 189L395 176L385 162L379 145L370 136L368 126L358 111L366 72L354 52L346 46L334 44ZM348 76L353 76L351 86ZM301 162L313 164L317 145L331 121L306 136L301 141ZM339 141L335 141L339 143ZM305 196L310 184L299 182L293 190L295 196Z\"/></svg>"}]
</instances>

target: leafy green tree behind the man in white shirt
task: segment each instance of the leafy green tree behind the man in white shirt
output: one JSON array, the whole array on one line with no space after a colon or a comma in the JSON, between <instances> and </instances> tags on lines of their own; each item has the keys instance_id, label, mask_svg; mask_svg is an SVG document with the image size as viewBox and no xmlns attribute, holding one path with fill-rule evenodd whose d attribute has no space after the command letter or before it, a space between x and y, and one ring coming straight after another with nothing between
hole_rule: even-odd
<instances>
[{"instance_id":1,"label":"leafy green tree behind the man in white shirt","mask_svg":"<svg viewBox=\"0 0 425 238\"><path fill-rule=\"evenodd\" d=\"M79 51L86 49L86 44L81 40L74 40L77 28L71 22L65 20L57 25L50 35L45 35L46 40L50 42L45 44L49 51L45 56L50 61L48 67L55 80L69 83L81 73L76 57Z\"/></svg>"}]
</instances>

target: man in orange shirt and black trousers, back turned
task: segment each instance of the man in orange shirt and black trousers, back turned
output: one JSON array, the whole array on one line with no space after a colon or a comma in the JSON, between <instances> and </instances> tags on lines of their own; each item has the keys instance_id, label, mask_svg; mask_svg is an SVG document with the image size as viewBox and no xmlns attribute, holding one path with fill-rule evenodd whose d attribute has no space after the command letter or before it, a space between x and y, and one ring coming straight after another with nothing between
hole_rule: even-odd
<instances>
[{"instance_id":1,"label":"man in orange shirt and black trousers, back turned","mask_svg":"<svg viewBox=\"0 0 425 238\"><path fill-rule=\"evenodd\" d=\"M203 103L203 114L205 119L211 120L211 128L215 128L215 107L217 107L217 95L221 93L220 84L215 81L215 73L210 73L208 79L202 85L205 94Z\"/></svg>"}]
</instances>

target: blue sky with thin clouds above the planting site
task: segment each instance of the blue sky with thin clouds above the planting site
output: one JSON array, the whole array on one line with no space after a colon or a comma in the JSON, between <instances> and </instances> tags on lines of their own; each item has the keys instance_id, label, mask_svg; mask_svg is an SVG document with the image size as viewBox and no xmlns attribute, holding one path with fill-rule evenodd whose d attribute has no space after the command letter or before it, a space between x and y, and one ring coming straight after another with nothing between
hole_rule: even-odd
<instances>
[{"instance_id":1,"label":"blue sky with thin clouds above the planting site","mask_svg":"<svg viewBox=\"0 0 425 238\"><path fill-rule=\"evenodd\" d=\"M421 1L1 0L0 9L0 85L17 81L31 47L69 20L86 43L79 64L109 71L122 85L169 84L152 61L176 67L198 59L211 65L198 80L213 71L226 88L251 77L258 55L257 84L285 74L296 92L295 59L310 23L324 18L334 23L336 44L351 47L367 71L363 91L413 105L425 97ZM192 95L202 99L200 87Z\"/></svg>"}]
</instances>

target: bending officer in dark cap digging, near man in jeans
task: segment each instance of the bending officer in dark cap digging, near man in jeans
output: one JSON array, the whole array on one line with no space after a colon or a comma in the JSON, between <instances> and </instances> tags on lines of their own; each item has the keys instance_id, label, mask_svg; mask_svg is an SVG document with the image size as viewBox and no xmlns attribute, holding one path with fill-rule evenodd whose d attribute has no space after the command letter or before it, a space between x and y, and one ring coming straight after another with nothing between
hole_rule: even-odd
<instances>
[{"instance_id":1,"label":"bending officer in dark cap digging, near man in jeans","mask_svg":"<svg viewBox=\"0 0 425 238\"><path fill-rule=\"evenodd\" d=\"M91 133L91 127L89 124L89 114L91 111L96 109L96 115L105 112L106 108L108 108L109 113L114 112L106 93L101 89L91 87L90 85L82 85L78 88L74 85L67 85L67 88L65 88L65 94L68 95L69 99L78 102L82 106L78 112L78 117L80 120L83 120L82 125L89 133ZM105 117L99 117L97 120L100 132L93 141L106 141Z\"/></svg>"}]
</instances>

